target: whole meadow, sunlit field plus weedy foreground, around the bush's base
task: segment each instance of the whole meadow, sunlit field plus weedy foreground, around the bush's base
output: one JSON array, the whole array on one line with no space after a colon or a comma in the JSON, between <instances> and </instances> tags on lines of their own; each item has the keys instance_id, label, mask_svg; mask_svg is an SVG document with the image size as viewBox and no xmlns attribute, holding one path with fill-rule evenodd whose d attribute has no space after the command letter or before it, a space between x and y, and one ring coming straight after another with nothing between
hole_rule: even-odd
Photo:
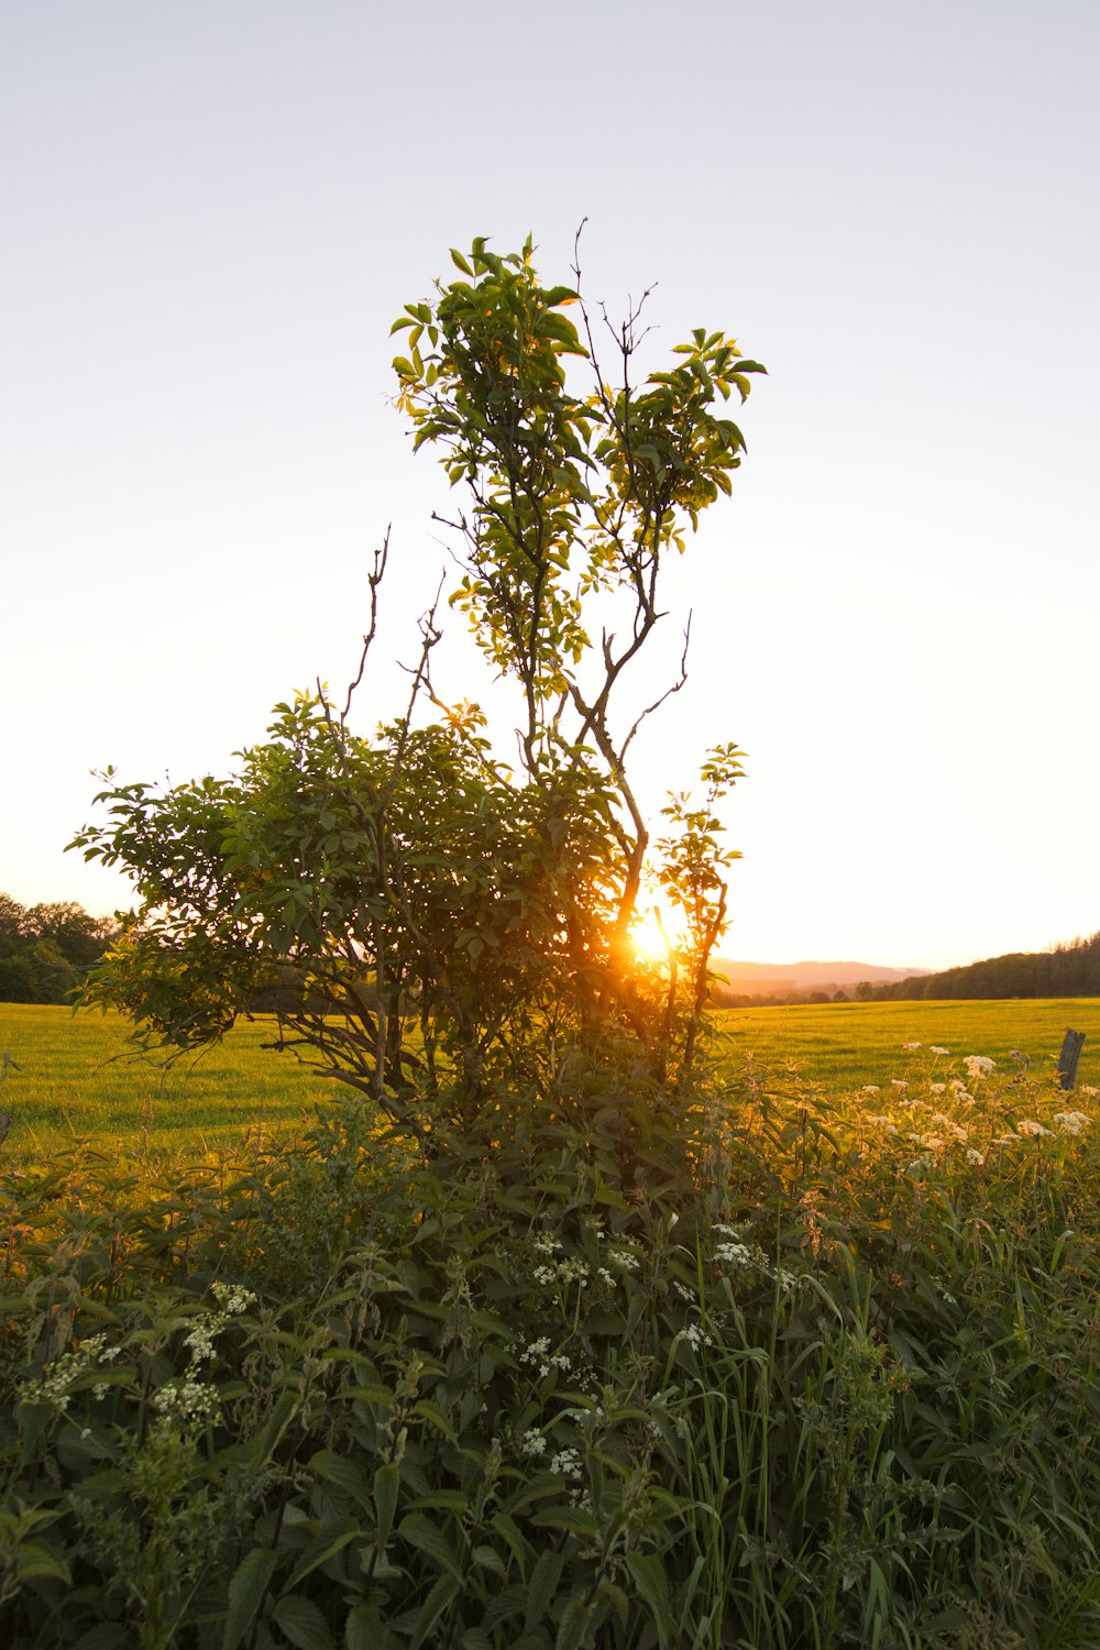
<instances>
[{"instance_id":1,"label":"whole meadow, sunlit field plus weedy foreground, around the bush's base","mask_svg":"<svg viewBox=\"0 0 1100 1650\"><path fill-rule=\"evenodd\" d=\"M5 1010L0 1642L1095 1650L1097 1008L729 1011L632 1183Z\"/></svg>"}]
</instances>

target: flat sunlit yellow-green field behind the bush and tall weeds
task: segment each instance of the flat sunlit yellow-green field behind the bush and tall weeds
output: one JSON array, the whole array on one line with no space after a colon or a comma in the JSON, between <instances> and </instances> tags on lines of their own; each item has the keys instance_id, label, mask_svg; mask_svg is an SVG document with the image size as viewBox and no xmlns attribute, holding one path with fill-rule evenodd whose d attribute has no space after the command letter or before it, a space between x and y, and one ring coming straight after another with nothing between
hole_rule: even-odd
<instances>
[{"instance_id":1,"label":"flat sunlit yellow-green field behind the bush and tall weeds","mask_svg":"<svg viewBox=\"0 0 1100 1650\"><path fill-rule=\"evenodd\" d=\"M716 1015L714 1054L734 1063L752 1054L775 1071L793 1063L805 1081L843 1091L904 1077L927 1063L932 1043L953 1061L990 1054L1003 1068L1019 1049L1042 1074L1054 1069L1067 1026L1087 1036L1079 1084L1100 1086L1097 998L731 1008ZM297 1129L333 1084L266 1049L272 1031L267 1018L242 1023L200 1059L165 1069L129 1056L120 1018L0 1003L0 1054L18 1066L0 1087L0 1110L13 1115L8 1152L46 1155L73 1135L117 1140L127 1152L203 1150L249 1130ZM922 1049L904 1054L904 1043Z\"/></svg>"}]
</instances>

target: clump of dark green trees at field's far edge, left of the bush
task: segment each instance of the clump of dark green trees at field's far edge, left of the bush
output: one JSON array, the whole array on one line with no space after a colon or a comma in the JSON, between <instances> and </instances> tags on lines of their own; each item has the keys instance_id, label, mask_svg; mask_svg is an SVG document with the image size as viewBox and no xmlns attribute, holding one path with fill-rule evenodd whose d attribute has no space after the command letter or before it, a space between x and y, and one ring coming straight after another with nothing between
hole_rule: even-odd
<instances>
[{"instance_id":1,"label":"clump of dark green trees at field's far edge, left of the bush","mask_svg":"<svg viewBox=\"0 0 1100 1650\"><path fill-rule=\"evenodd\" d=\"M21 906L0 894L0 1003L68 1003L117 932L73 901Z\"/></svg>"}]
</instances>

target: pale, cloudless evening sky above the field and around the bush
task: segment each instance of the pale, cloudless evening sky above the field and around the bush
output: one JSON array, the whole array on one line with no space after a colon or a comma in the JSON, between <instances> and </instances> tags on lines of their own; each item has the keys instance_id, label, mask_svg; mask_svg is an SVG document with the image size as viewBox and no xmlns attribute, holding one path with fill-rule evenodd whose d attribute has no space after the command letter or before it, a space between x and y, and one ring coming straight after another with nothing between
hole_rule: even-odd
<instances>
[{"instance_id":1,"label":"pale, cloudless evening sky above the field and around the bush","mask_svg":"<svg viewBox=\"0 0 1100 1650\"><path fill-rule=\"evenodd\" d=\"M722 954L1100 929L1098 59L1093 0L0 3L0 889L127 906L63 851L92 771L224 774L343 685L388 526L393 713L452 563L389 325L477 234L569 280L587 219L653 366L769 368L635 683L691 610L635 779L747 752Z\"/></svg>"}]
</instances>

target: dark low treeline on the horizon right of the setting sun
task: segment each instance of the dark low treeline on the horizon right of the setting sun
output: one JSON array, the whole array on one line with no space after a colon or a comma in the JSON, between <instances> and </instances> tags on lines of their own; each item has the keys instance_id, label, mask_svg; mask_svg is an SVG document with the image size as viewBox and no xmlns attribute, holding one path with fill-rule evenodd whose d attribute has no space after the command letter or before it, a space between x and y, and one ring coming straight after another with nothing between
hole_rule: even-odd
<instances>
[{"instance_id":1,"label":"dark low treeline on the horizon right of the setting sun","mask_svg":"<svg viewBox=\"0 0 1100 1650\"><path fill-rule=\"evenodd\" d=\"M1054 950L1013 950L1006 957L986 957L966 967L942 974L917 974L907 980L872 985L861 980L836 992L772 992L745 995L716 985L712 998L719 1008L749 1008L762 1003L891 1003L942 1002L952 997L1100 997L1100 932L1075 939Z\"/></svg>"}]
</instances>

